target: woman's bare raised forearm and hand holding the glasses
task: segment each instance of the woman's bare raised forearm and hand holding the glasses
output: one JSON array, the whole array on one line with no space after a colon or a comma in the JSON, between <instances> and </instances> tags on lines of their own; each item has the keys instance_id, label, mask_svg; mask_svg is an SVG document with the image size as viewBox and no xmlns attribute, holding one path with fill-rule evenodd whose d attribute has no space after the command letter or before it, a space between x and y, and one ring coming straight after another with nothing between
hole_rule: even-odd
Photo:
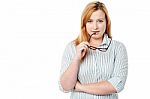
<instances>
[{"instance_id":1,"label":"woman's bare raised forearm and hand holding the glasses","mask_svg":"<svg viewBox=\"0 0 150 99\"><path fill-rule=\"evenodd\" d=\"M69 91L74 89L76 82L77 82L77 75L78 75L78 69L81 62L81 59L85 56L88 47L87 42L82 42L76 47L76 54L71 59L70 65L65 70L65 72L60 77L60 84L65 91ZM66 51L66 54L69 54L68 51ZM66 55L65 55L66 56ZM68 55L69 56L69 55ZM64 59L68 60L68 56L64 57ZM63 62L66 63L66 61L63 59ZM68 64L68 62L67 62Z\"/></svg>"}]
</instances>

